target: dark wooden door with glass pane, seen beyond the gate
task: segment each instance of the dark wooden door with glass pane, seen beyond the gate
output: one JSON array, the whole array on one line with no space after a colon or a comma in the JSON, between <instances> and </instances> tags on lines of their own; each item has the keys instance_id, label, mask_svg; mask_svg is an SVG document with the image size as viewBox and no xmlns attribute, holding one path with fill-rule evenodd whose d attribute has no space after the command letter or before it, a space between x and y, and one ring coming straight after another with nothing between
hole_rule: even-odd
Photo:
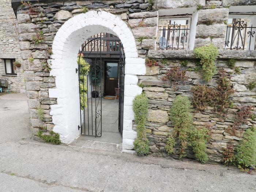
<instances>
[{"instance_id":1,"label":"dark wooden door with glass pane, seen beyond the gate","mask_svg":"<svg viewBox=\"0 0 256 192\"><path fill-rule=\"evenodd\" d=\"M118 61L105 62L105 95L115 96L118 88Z\"/></svg>"}]
</instances>

